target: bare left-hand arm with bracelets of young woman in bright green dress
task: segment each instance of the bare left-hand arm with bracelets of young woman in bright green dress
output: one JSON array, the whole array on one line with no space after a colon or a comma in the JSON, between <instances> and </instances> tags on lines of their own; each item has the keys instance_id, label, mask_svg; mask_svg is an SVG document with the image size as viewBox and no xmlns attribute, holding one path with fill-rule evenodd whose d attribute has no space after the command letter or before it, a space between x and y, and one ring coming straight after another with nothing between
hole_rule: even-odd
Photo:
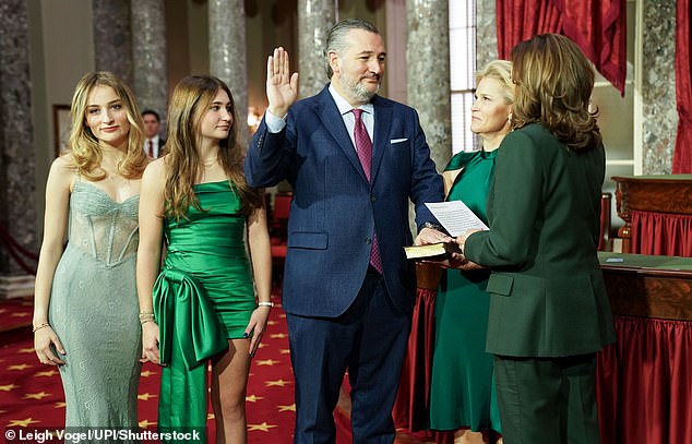
<instances>
[{"instance_id":1,"label":"bare left-hand arm with bracelets of young woman in bright green dress","mask_svg":"<svg viewBox=\"0 0 692 444\"><path fill-rule=\"evenodd\" d=\"M144 170L140 192L140 244L136 260L136 290L142 322L142 361L159 363L158 325L150 317L154 313L152 291L158 276L162 257L164 219L165 164L153 161Z\"/></svg>"}]
</instances>

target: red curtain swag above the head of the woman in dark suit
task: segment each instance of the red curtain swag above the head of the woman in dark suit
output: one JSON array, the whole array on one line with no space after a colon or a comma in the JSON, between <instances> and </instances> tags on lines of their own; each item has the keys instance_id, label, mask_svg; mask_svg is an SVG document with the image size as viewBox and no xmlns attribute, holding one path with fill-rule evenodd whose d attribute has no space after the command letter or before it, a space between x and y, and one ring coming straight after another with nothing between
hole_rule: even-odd
<instances>
[{"instance_id":1,"label":"red curtain swag above the head of the woman in dark suit","mask_svg":"<svg viewBox=\"0 0 692 444\"><path fill-rule=\"evenodd\" d=\"M625 0L497 0L496 10L501 59L536 34L563 34L624 95Z\"/></svg>"}]
</instances>

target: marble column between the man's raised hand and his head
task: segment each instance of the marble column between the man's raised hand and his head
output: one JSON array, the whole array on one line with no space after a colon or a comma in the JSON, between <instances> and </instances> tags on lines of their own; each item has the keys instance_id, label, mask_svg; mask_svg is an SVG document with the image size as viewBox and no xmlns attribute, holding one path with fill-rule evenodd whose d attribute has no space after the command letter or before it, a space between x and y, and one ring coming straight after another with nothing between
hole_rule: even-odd
<instances>
[{"instance_id":1,"label":"marble column between the man's raised hand and his head","mask_svg":"<svg viewBox=\"0 0 692 444\"><path fill-rule=\"evenodd\" d=\"M329 82L324 48L332 26L336 24L334 0L298 1L298 71L300 96L313 96Z\"/></svg>"}]
</instances>

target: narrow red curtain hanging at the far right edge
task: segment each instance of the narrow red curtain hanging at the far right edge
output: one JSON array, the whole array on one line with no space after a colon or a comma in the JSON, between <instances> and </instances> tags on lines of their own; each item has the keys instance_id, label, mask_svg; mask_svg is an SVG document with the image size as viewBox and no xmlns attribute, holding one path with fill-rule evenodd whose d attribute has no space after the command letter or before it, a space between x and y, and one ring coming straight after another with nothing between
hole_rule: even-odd
<instances>
[{"instance_id":1,"label":"narrow red curtain hanging at the far right edge","mask_svg":"<svg viewBox=\"0 0 692 444\"><path fill-rule=\"evenodd\" d=\"M690 0L677 0L676 16L676 99L678 135L672 156L672 172L692 172L692 60L690 60Z\"/></svg>"}]
</instances>

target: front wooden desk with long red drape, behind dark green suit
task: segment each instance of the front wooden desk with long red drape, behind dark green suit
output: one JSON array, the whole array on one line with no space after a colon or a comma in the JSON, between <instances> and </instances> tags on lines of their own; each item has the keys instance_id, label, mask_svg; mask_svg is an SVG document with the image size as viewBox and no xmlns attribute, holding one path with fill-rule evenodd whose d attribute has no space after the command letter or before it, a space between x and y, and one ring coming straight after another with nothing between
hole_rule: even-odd
<instances>
[{"instance_id":1,"label":"front wooden desk with long red drape, behind dark green suit","mask_svg":"<svg viewBox=\"0 0 692 444\"><path fill-rule=\"evenodd\" d=\"M597 355L601 442L692 444L692 259L598 256L617 336Z\"/></svg>"}]
</instances>

